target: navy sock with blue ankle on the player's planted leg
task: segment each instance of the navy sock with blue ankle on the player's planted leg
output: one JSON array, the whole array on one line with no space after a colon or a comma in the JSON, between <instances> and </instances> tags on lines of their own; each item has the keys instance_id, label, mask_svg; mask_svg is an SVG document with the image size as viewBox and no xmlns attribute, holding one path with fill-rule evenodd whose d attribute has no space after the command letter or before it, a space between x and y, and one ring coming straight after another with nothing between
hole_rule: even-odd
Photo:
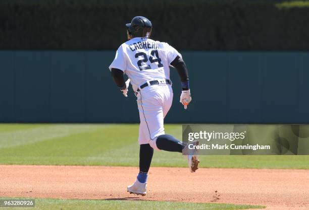
<instances>
[{"instance_id":1,"label":"navy sock with blue ankle on the player's planted leg","mask_svg":"<svg viewBox=\"0 0 309 210\"><path fill-rule=\"evenodd\" d=\"M147 173L150 168L151 159L153 155L153 148L149 144L139 146L139 173L137 180L141 183L147 181Z\"/></svg>"}]
</instances>

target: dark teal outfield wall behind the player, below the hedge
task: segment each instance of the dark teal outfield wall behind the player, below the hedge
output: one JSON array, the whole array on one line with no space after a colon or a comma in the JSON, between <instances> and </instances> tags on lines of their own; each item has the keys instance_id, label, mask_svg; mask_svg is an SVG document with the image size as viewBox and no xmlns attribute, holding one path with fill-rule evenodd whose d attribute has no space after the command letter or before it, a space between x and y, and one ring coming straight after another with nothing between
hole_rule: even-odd
<instances>
[{"instance_id":1,"label":"dark teal outfield wall behind the player, below the hedge","mask_svg":"<svg viewBox=\"0 0 309 210\"><path fill-rule=\"evenodd\" d=\"M0 122L139 122L108 66L114 51L0 51ZM183 51L193 101L173 123L309 123L308 52Z\"/></svg>"}]
</instances>

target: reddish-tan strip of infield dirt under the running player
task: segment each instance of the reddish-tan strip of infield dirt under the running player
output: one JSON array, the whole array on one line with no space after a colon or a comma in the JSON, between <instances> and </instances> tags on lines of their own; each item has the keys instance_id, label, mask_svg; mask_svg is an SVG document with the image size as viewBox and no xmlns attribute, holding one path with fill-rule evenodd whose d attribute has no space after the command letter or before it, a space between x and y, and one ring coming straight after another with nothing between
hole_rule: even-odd
<instances>
[{"instance_id":1,"label":"reddish-tan strip of infield dirt under the running player","mask_svg":"<svg viewBox=\"0 0 309 210\"><path fill-rule=\"evenodd\" d=\"M147 196L126 192L137 167L0 165L0 196L168 200L309 209L309 170L150 168ZM215 192L217 191L217 192Z\"/></svg>"}]
</instances>

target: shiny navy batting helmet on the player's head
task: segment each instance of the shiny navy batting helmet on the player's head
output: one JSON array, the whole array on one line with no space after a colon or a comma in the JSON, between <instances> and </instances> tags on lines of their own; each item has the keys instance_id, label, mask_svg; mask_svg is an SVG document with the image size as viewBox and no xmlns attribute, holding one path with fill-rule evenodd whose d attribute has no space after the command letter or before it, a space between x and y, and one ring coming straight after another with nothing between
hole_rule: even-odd
<instances>
[{"instance_id":1,"label":"shiny navy batting helmet on the player's head","mask_svg":"<svg viewBox=\"0 0 309 210\"><path fill-rule=\"evenodd\" d=\"M127 31L132 37L150 37L152 25L151 22L142 16L136 16L131 23L126 24Z\"/></svg>"}]
</instances>

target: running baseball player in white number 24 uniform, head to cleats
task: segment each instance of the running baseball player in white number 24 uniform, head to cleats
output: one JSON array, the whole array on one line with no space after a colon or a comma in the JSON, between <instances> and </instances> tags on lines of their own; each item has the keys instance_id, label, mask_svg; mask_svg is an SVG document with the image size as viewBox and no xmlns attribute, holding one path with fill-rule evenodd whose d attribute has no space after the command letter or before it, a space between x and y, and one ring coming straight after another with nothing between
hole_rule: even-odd
<instances>
[{"instance_id":1,"label":"running baseball player in white number 24 uniform, head to cleats","mask_svg":"<svg viewBox=\"0 0 309 210\"><path fill-rule=\"evenodd\" d=\"M181 79L180 103L187 109L191 101L189 77L181 54L168 43L151 40L151 22L142 16L134 17L126 24L128 41L120 45L115 59L109 66L116 85L125 97L131 83L139 111L138 143L139 173L130 193L146 195L147 173L153 149L187 154L191 172L198 165L196 150L164 132L164 117L172 105L173 90L170 67L177 69ZM125 82L123 75L128 76Z\"/></svg>"}]
</instances>

